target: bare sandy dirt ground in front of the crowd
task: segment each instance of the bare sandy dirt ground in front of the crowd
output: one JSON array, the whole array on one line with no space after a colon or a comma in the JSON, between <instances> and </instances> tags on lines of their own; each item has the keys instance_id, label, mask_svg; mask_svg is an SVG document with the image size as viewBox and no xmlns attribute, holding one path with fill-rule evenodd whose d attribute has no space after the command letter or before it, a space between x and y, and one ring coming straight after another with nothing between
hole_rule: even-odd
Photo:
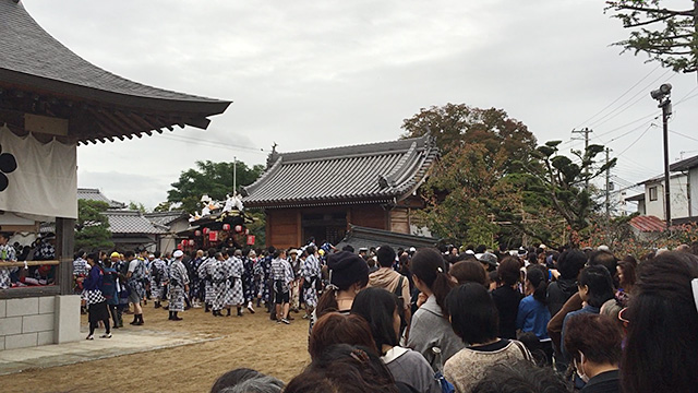
<instances>
[{"instance_id":1,"label":"bare sandy dirt ground in front of the crowd","mask_svg":"<svg viewBox=\"0 0 698 393\"><path fill-rule=\"evenodd\" d=\"M269 320L264 308L255 314L214 318L203 309L180 313L183 321L168 321L167 311L144 307L148 330L192 332L222 337L168 349L109 359L31 370L0 377L2 392L207 392L226 371L249 367L290 381L310 362L308 321L301 313L290 325ZM303 311L301 311L303 312ZM234 310L232 312L234 314ZM128 324L125 330L140 329ZM83 326L87 325L83 315ZM120 330L115 330L119 334Z\"/></svg>"}]
</instances>

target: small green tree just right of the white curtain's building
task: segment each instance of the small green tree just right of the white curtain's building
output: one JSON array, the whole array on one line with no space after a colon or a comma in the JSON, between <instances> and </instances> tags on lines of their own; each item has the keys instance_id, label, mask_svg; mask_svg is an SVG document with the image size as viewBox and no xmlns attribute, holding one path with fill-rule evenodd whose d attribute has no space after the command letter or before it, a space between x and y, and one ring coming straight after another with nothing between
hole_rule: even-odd
<instances>
[{"instance_id":1,"label":"small green tree just right of the white curtain's building","mask_svg":"<svg viewBox=\"0 0 698 393\"><path fill-rule=\"evenodd\" d=\"M75 223L75 250L113 248L109 219L101 214L109 204L101 201L77 200Z\"/></svg>"}]
</instances>

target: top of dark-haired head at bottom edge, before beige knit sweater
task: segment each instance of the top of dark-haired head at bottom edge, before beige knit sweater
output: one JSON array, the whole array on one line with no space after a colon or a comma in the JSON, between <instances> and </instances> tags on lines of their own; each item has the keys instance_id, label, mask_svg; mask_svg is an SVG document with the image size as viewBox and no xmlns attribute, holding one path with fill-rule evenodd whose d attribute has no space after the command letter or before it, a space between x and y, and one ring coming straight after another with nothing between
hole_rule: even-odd
<instances>
[{"instance_id":1,"label":"top of dark-haired head at bottom edge, before beige knit sweater","mask_svg":"<svg viewBox=\"0 0 698 393\"><path fill-rule=\"evenodd\" d=\"M472 388L472 393L573 393L561 374L530 361L517 360L492 366Z\"/></svg>"}]
</instances>

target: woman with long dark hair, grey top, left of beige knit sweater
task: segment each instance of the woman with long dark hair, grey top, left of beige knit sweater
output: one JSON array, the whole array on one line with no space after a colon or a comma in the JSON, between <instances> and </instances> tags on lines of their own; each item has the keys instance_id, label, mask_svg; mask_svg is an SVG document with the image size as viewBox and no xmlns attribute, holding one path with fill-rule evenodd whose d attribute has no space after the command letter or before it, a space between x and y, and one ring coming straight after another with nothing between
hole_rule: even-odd
<instances>
[{"instance_id":1,"label":"woman with long dark hair, grey top, left of beige knit sweater","mask_svg":"<svg viewBox=\"0 0 698 393\"><path fill-rule=\"evenodd\" d=\"M419 392L441 392L426 359L418 352L398 346L400 314L395 294L384 288L365 288L353 300L351 313L369 322L381 359L396 381L405 382Z\"/></svg>"}]
</instances>

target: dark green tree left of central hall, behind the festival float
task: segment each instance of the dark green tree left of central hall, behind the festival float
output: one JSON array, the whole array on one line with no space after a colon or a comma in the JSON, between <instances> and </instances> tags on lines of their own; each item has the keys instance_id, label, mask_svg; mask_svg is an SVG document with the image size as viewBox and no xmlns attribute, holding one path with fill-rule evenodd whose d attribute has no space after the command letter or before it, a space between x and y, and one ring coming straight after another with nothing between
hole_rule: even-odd
<instances>
[{"instance_id":1,"label":"dark green tree left of central hall, behind the festival float","mask_svg":"<svg viewBox=\"0 0 698 393\"><path fill-rule=\"evenodd\" d=\"M168 202L180 202L182 210L194 213L201 210L201 196L207 194L222 201L232 193L233 163L196 162L196 168L184 170L179 180L167 192ZM263 165L248 167L242 162L236 164L238 188L249 186L264 172Z\"/></svg>"}]
</instances>

